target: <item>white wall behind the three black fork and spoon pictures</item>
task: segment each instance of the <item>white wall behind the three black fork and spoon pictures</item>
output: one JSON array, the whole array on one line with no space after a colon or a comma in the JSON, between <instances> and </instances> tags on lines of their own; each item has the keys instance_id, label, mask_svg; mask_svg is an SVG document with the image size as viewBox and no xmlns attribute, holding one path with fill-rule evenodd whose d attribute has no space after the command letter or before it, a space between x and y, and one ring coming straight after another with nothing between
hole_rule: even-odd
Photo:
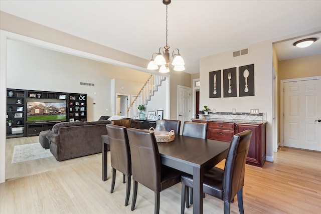
<instances>
[{"instance_id":1,"label":"white wall behind the three black fork and spoon pictures","mask_svg":"<svg viewBox=\"0 0 321 214\"><path fill-rule=\"evenodd\" d=\"M233 57L233 51L236 51L233 50L200 60L200 106L207 105L217 112L232 112L233 108L237 112L250 112L251 108L258 108L260 112L267 113L266 155L267 160L272 161L272 43L267 41L244 48L249 49L249 54ZM209 72L237 67L238 73L239 66L249 64L254 64L255 96L239 97L237 93L237 97L224 98L222 81L221 98L209 98Z\"/></svg>"}]
</instances>

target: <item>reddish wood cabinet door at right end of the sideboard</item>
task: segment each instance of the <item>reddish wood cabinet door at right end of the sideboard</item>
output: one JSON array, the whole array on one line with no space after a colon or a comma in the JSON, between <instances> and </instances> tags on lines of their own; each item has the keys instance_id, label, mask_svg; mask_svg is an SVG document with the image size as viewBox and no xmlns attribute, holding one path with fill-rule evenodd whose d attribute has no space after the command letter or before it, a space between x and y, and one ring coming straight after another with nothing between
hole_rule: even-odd
<instances>
[{"instance_id":1,"label":"reddish wood cabinet door at right end of the sideboard","mask_svg":"<svg viewBox=\"0 0 321 214\"><path fill-rule=\"evenodd\" d=\"M252 137L247 154L246 162L252 165L262 166L262 142L261 142L261 125L259 124L240 124L236 123L236 133L240 133L245 130L252 130ZM265 148L264 148L265 151ZM265 154L264 154L265 157ZM265 159L265 158L264 158ZM254 164L253 164L254 163Z\"/></svg>"}]
</instances>

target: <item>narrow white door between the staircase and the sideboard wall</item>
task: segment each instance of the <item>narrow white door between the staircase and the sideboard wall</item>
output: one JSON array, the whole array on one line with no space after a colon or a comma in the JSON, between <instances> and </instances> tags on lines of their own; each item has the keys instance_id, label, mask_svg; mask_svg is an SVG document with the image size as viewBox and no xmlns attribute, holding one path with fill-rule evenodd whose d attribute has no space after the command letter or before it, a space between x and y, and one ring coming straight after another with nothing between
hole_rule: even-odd
<instances>
[{"instance_id":1,"label":"narrow white door between the staircase and the sideboard wall","mask_svg":"<svg viewBox=\"0 0 321 214\"><path fill-rule=\"evenodd\" d=\"M190 121L191 88L178 86L178 120L181 120L181 132L185 121Z\"/></svg>"}]
</instances>

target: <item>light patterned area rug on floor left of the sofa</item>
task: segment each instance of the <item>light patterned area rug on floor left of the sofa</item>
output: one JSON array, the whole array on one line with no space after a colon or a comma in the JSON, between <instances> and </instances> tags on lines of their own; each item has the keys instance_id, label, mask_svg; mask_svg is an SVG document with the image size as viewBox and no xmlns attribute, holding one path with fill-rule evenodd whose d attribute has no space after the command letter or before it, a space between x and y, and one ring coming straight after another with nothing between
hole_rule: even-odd
<instances>
[{"instance_id":1,"label":"light patterned area rug on floor left of the sofa","mask_svg":"<svg viewBox=\"0 0 321 214\"><path fill-rule=\"evenodd\" d=\"M53 156L50 149L44 149L40 143L17 145L11 164Z\"/></svg>"}]
</instances>

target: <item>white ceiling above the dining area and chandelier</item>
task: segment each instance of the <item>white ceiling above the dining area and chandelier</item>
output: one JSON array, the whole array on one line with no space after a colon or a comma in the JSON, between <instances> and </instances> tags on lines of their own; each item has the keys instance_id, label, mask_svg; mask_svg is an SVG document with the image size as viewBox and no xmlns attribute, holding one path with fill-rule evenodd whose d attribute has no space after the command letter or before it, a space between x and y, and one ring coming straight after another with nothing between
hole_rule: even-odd
<instances>
[{"instance_id":1,"label":"white ceiling above the dining area and chandelier","mask_svg":"<svg viewBox=\"0 0 321 214\"><path fill-rule=\"evenodd\" d=\"M0 10L148 60L166 45L162 0L1 0ZM267 40L279 60L321 54L320 40L304 51L292 45L308 34L320 39L320 32L321 0L173 0L168 7L170 53L180 49L187 73L199 72L202 57Z\"/></svg>"}]
</instances>

